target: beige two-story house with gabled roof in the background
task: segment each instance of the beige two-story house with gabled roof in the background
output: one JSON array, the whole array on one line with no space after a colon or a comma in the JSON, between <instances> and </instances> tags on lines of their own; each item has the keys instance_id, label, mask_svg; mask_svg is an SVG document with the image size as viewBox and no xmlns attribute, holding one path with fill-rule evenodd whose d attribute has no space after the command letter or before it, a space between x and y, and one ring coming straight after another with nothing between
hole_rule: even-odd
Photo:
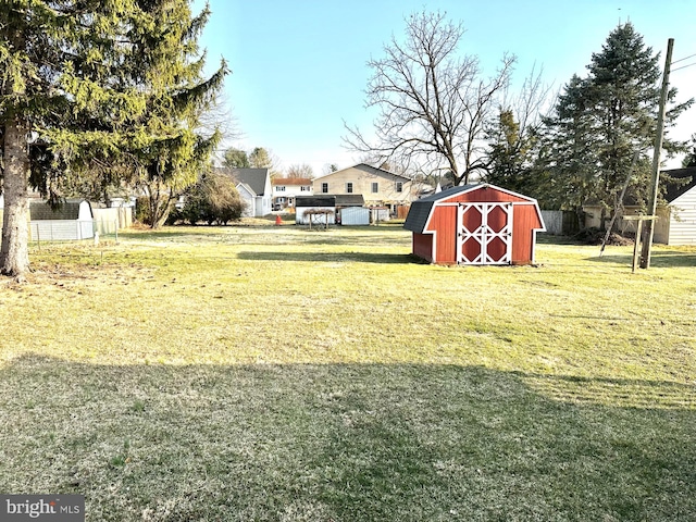
<instances>
[{"instance_id":1,"label":"beige two-story house with gabled roof in the background","mask_svg":"<svg viewBox=\"0 0 696 522\"><path fill-rule=\"evenodd\" d=\"M418 187L410 177L365 163L316 177L312 187L315 196L362 195L365 206L388 207L395 215L418 199ZM402 213L406 216L406 210Z\"/></svg>"}]
</instances>

